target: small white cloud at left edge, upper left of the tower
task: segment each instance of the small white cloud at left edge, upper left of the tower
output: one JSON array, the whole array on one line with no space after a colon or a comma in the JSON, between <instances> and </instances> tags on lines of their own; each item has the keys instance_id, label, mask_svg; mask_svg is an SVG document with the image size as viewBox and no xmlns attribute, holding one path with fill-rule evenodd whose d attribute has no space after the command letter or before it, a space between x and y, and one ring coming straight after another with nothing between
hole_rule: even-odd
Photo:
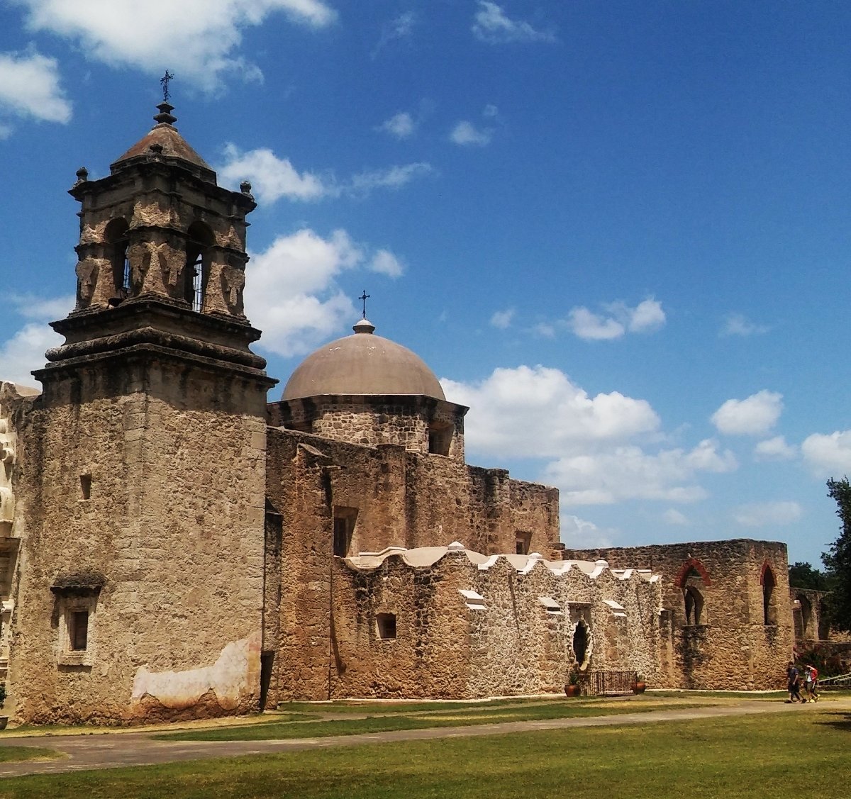
<instances>
[{"instance_id":1,"label":"small white cloud at left edge, upper left of the tower","mask_svg":"<svg viewBox=\"0 0 851 799\"><path fill-rule=\"evenodd\" d=\"M67 123L71 102L60 87L56 60L35 52L0 53L0 112ZM9 125L4 129L11 132Z\"/></svg>"}]
</instances>

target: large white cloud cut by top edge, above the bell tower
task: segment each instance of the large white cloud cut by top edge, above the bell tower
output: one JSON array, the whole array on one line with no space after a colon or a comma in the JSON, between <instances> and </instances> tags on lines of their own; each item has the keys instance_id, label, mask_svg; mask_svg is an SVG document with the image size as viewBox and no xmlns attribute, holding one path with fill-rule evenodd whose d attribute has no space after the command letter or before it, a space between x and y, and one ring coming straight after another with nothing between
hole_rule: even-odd
<instances>
[{"instance_id":1,"label":"large white cloud cut by top edge, above the bell tower","mask_svg":"<svg viewBox=\"0 0 851 799\"><path fill-rule=\"evenodd\" d=\"M111 66L161 73L203 88L222 75L258 78L260 70L238 54L245 28L282 13L322 28L336 12L320 0L17 0L27 9L31 31L49 31L77 43L90 57Z\"/></svg>"}]
</instances>

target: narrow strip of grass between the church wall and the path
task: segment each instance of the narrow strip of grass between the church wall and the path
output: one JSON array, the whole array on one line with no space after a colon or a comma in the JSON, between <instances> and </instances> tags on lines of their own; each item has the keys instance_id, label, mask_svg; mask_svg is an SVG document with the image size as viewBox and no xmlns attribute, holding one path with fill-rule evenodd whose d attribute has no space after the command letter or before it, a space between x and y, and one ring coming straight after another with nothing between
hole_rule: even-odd
<instances>
[{"instance_id":1,"label":"narrow strip of grass between the church wall and the path","mask_svg":"<svg viewBox=\"0 0 851 799\"><path fill-rule=\"evenodd\" d=\"M704 706L688 702L668 702L666 707L688 708ZM525 700L523 704L494 703L488 707L481 705L454 707L445 706L440 712L426 712L422 715L403 713L390 714L391 706L378 709L381 715L367 718L334 719L333 721L291 723L279 722L277 718L269 722L259 722L239 727L216 727L196 730L183 730L179 733L161 733L160 740L181 741L233 741L233 740L285 740L296 738L325 738L328 735L356 735L358 733L384 733L400 729L425 729L433 727L459 727L467 724L491 724L496 722L537 721L550 718L574 718L580 716L610 716L615 713L640 713L659 710L660 703L631 699L627 702L605 702L591 699L586 702L576 699L559 699L535 704Z\"/></svg>"}]
</instances>

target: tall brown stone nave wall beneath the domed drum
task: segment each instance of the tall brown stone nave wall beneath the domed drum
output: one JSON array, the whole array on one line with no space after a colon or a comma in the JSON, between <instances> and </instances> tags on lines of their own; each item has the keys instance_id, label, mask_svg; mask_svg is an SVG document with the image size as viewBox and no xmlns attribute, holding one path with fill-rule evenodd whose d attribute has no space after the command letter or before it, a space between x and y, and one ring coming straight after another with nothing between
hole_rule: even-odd
<instances>
[{"instance_id":1,"label":"tall brown stone nave wall beneath the domed drum","mask_svg":"<svg viewBox=\"0 0 851 799\"><path fill-rule=\"evenodd\" d=\"M356 446L279 428L268 431L267 492L267 528L279 517L282 529L279 576L268 551L266 564L267 585L281 585L280 614L266 614L266 641L281 642L270 702L337 690L328 677L331 611L339 607L333 584L341 579L335 515L354 511L348 554L453 540L511 552L517 530L528 530L531 549L546 553L558 535L555 489L393 445Z\"/></svg>"}]
</instances>

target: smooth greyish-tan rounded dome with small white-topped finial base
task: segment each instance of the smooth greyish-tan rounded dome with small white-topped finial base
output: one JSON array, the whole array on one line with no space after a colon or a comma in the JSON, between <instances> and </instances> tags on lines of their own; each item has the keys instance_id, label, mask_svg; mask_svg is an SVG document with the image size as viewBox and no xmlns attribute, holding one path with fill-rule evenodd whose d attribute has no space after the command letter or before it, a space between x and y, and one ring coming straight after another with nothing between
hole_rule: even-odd
<instances>
[{"instance_id":1,"label":"smooth greyish-tan rounded dome with small white-topped finial base","mask_svg":"<svg viewBox=\"0 0 851 799\"><path fill-rule=\"evenodd\" d=\"M284 400L323 394L405 394L445 400L437 377L414 352L374 334L366 319L355 334L320 347L301 362L283 389Z\"/></svg>"}]
</instances>

